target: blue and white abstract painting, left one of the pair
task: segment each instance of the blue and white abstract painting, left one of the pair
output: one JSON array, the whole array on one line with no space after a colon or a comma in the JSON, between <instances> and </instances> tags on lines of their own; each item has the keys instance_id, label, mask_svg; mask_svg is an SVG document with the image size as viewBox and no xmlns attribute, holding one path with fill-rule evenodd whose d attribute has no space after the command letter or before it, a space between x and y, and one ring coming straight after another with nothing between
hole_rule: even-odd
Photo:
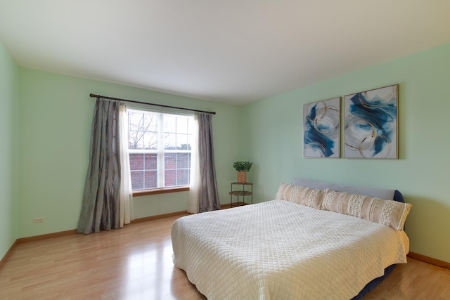
<instances>
[{"instance_id":1,"label":"blue and white abstract painting, left one of the pair","mask_svg":"<svg viewBox=\"0 0 450 300\"><path fill-rule=\"evenodd\" d=\"M303 157L340 157L341 97L303 105Z\"/></svg>"}]
</instances>

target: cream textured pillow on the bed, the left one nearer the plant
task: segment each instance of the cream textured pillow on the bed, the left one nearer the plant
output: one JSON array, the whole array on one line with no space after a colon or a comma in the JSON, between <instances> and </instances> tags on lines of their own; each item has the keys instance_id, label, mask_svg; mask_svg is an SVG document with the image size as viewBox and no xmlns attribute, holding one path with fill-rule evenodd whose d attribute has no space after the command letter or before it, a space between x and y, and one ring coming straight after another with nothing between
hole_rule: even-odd
<instances>
[{"instance_id":1,"label":"cream textured pillow on the bed, the left one nearer the plant","mask_svg":"<svg viewBox=\"0 0 450 300\"><path fill-rule=\"evenodd\" d=\"M281 183L275 199L288 200L314 209L321 209L323 190Z\"/></svg>"}]
</instances>

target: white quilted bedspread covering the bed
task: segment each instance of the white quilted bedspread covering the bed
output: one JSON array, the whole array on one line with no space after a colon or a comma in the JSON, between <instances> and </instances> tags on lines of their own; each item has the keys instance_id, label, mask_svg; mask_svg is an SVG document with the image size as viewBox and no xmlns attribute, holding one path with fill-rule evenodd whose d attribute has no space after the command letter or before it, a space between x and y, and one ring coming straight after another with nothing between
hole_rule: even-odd
<instances>
[{"instance_id":1,"label":"white quilted bedspread covering the bed","mask_svg":"<svg viewBox=\"0 0 450 300\"><path fill-rule=\"evenodd\" d=\"M351 299L393 263L404 231L284 200L184 216L174 264L208 299Z\"/></svg>"}]
</instances>

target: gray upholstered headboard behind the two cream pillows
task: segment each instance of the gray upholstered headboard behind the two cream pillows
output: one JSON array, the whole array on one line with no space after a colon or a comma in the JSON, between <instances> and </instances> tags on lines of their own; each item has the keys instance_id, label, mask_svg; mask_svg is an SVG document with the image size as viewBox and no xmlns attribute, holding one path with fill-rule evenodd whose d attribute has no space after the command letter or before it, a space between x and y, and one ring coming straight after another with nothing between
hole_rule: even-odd
<instances>
[{"instance_id":1,"label":"gray upholstered headboard behind the two cream pillows","mask_svg":"<svg viewBox=\"0 0 450 300\"><path fill-rule=\"evenodd\" d=\"M386 200L396 200L399 202L404 202L403 196L398 190L387 190L383 188L366 188L357 185L328 183L325 181L314 181L303 178L295 178L291 184L302 185L308 188L318 188L320 190L326 190L327 188L329 188L330 190L335 190L337 192L366 195L369 197L377 197Z\"/></svg>"}]
</instances>

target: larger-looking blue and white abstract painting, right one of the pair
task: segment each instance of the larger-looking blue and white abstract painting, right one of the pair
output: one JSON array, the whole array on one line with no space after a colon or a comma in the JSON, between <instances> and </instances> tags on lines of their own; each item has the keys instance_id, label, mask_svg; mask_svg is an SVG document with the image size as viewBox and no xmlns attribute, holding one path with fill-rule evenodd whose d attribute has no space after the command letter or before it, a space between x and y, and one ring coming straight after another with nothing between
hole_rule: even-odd
<instances>
[{"instance_id":1,"label":"larger-looking blue and white abstract painting, right one of the pair","mask_svg":"<svg viewBox=\"0 0 450 300\"><path fill-rule=\"evenodd\" d=\"M346 158L398 159L399 85L345 96Z\"/></svg>"}]
</instances>

